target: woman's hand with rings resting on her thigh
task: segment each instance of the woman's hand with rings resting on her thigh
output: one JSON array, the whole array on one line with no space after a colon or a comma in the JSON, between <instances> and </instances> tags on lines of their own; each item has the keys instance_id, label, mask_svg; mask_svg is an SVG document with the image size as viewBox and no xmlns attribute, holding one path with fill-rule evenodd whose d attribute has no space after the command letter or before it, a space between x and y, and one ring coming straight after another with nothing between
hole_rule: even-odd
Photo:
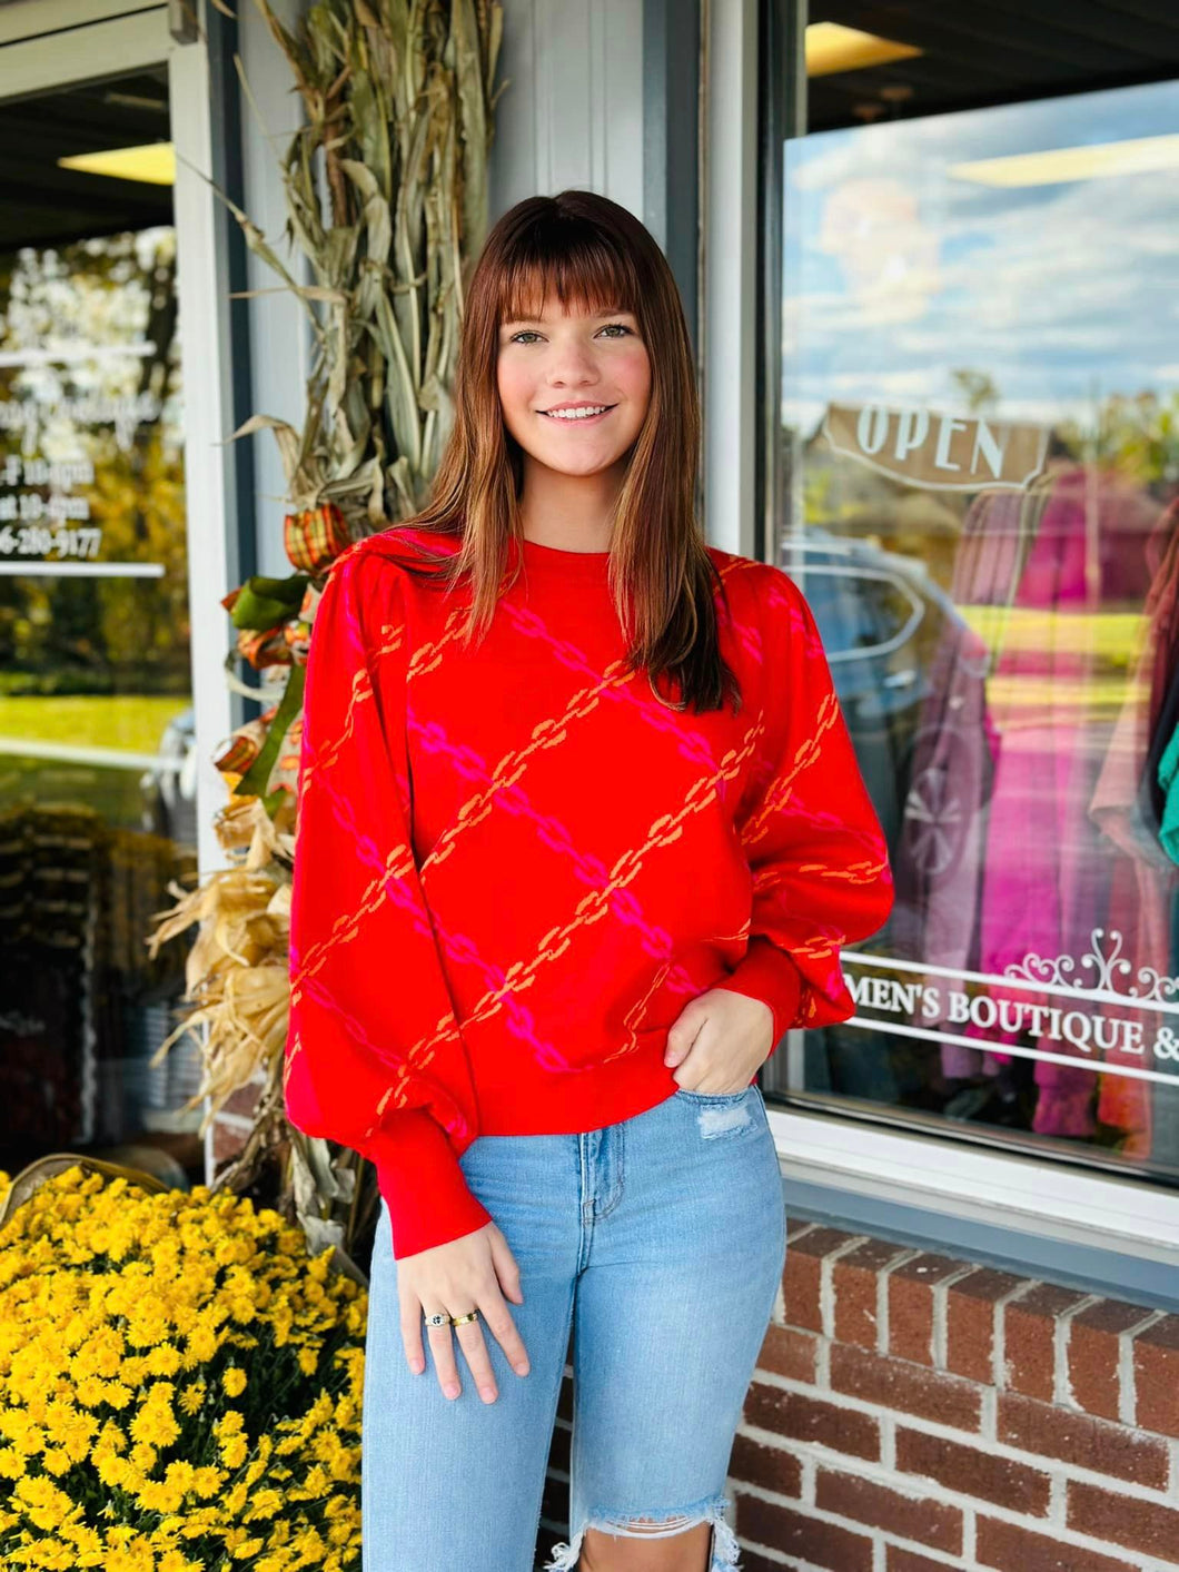
<instances>
[{"instance_id":1,"label":"woman's hand with rings resting on her thigh","mask_svg":"<svg viewBox=\"0 0 1179 1572\"><path fill-rule=\"evenodd\" d=\"M431 1250L418 1250L398 1261L398 1295L401 1298L401 1339L406 1358L415 1376L426 1368L421 1347L423 1316L442 1311L446 1316L464 1316L478 1309L479 1320L462 1327L426 1327L439 1385L446 1398L457 1398L462 1390L454 1361L454 1333L467 1357L475 1385L484 1402L495 1402L498 1390L495 1374L483 1341L481 1324L487 1327L517 1376L528 1374L528 1353L516 1330L503 1295L517 1305L523 1303L520 1292L520 1269L516 1264L508 1240L495 1223L484 1223L470 1234L451 1239Z\"/></svg>"}]
</instances>

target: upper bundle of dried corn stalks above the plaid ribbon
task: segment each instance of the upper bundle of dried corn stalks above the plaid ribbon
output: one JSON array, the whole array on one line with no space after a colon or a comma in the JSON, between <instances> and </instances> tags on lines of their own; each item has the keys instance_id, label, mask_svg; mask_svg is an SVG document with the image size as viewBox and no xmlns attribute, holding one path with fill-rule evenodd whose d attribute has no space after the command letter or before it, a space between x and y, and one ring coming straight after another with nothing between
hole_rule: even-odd
<instances>
[{"instance_id":1,"label":"upper bundle of dried corn stalks above the plaid ribbon","mask_svg":"<svg viewBox=\"0 0 1179 1572\"><path fill-rule=\"evenodd\" d=\"M278 442L292 509L335 501L352 539L415 512L453 426L462 269L487 228L492 91L503 31L489 0L319 0L283 49L305 124L283 159L297 281L234 209L250 248L307 307L302 432ZM248 91L248 88L247 88Z\"/></svg>"}]
</instances>

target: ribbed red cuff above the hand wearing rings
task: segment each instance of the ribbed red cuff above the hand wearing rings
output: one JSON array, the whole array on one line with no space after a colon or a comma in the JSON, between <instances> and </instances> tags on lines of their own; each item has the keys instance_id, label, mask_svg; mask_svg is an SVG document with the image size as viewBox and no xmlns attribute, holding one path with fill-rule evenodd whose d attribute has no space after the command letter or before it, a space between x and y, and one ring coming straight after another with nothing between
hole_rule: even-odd
<instances>
[{"instance_id":1,"label":"ribbed red cuff above the hand wearing rings","mask_svg":"<svg viewBox=\"0 0 1179 1572\"><path fill-rule=\"evenodd\" d=\"M467 1185L446 1132L424 1108L395 1113L368 1152L393 1220L393 1259L450 1243L492 1221Z\"/></svg>"}]
</instances>

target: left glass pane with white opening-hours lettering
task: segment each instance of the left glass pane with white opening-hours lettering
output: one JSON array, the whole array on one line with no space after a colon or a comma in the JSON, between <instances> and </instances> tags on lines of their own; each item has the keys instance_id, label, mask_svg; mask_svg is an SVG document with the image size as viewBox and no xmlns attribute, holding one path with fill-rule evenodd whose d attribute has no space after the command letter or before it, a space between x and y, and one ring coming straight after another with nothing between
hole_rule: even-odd
<instances>
[{"instance_id":1,"label":"left glass pane with white opening-hours lettering","mask_svg":"<svg viewBox=\"0 0 1179 1572\"><path fill-rule=\"evenodd\" d=\"M163 69L0 102L20 163L0 252L9 1171L53 1151L201 1171L200 1110L179 1113L198 1050L151 1064L184 946L145 943L196 860L167 137Z\"/></svg>"}]
</instances>

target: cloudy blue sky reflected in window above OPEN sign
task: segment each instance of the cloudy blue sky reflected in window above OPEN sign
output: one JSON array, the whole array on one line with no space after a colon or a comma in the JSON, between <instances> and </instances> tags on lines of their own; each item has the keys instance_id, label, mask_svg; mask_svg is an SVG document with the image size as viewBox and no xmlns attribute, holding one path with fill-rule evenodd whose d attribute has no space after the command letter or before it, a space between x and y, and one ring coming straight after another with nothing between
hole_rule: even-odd
<instances>
[{"instance_id":1,"label":"cloudy blue sky reflected in window above OPEN sign","mask_svg":"<svg viewBox=\"0 0 1179 1572\"><path fill-rule=\"evenodd\" d=\"M995 189L956 163L1171 137L1179 83L822 132L784 145L783 421L830 401L1089 426L1179 385L1179 167Z\"/></svg>"}]
</instances>

